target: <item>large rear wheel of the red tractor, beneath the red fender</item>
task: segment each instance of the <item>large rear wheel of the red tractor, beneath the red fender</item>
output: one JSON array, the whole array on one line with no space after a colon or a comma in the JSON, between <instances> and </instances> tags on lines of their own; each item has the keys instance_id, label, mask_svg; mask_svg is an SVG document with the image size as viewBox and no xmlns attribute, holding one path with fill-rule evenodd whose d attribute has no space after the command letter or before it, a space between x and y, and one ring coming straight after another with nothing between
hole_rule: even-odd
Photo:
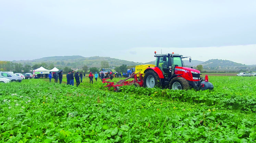
<instances>
[{"instance_id":1,"label":"large rear wheel of the red tractor, beneath the red fender","mask_svg":"<svg viewBox=\"0 0 256 143\"><path fill-rule=\"evenodd\" d=\"M145 88L159 87L160 79L157 73L155 73L153 70L149 70L144 76L143 83Z\"/></svg>"}]
</instances>

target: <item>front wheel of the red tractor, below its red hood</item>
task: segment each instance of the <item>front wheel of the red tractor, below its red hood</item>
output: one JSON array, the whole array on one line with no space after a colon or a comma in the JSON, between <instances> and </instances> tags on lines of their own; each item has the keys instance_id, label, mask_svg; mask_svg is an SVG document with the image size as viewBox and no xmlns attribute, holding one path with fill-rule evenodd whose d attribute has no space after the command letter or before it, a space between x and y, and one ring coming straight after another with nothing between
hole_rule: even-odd
<instances>
[{"instance_id":1,"label":"front wheel of the red tractor, below its red hood","mask_svg":"<svg viewBox=\"0 0 256 143\"><path fill-rule=\"evenodd\" d=\"M188 88L190 88L190 86L183 77L175 77L169 83L169 89L172 90L186 90Z\"/></svg>"}]
</instances>

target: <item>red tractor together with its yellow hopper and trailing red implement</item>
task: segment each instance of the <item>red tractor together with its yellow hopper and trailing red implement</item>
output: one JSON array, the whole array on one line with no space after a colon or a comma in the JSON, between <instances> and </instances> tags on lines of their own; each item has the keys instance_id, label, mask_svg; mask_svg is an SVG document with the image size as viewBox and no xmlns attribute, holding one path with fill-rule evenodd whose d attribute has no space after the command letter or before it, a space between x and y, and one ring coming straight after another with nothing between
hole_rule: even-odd
<instances>
[{"instance_id":1,"label":"red tractor together with its yellow hopper and trailing red implement","mask_svg":"<svg viewBox=\"0 0 256 143\"><path fill-rule=\"evenodd\" d=\"M184 90L193 88L195 90L212 90L214 86L208 81L208 76L200 77L200 71L184 67L182 59L191 57L183 57L180 54L167 53L156 54L156 65L146 64L137 65L135 72L124 80L117 83L103 79L103 83L107 83L105 87L109 89L114 87L115 91L120 89L120 86L131 85L144 86L145 88L154 88L160 86L172 90ZM134 78L134 80L128 80Z\"/></svg>"}]
</instances>

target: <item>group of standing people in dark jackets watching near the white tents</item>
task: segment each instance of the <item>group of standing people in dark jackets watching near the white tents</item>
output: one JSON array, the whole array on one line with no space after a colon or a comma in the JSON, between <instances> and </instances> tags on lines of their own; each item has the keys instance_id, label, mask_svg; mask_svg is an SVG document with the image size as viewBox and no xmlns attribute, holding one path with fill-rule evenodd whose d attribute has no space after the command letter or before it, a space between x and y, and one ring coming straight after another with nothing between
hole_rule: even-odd
<instances>
[{"instance_id":1,"label":"group of standing people in dark jackets watching near the white tents","mask_svg":"<svg viewBox=\"0 0 256 143\"><path fill-rule=\"evenodd\" d=\"M89 79L90 79L90 83L92 82L93 84L93 77L95 76L95 80L97 81L98 79L98 74L97 72L95 72L95 74L93 75L92 72L90 72L89 74ZM61 84L62 83L62 77L63 77L63 72L61 71L60 73L56 73L56 72L53 72L48 75L49 77L49 81L51 82L51 79L54 78L54 82L58 82L59 80L59 83ZM74 74L74 70L72 70L71 72L68 72L68 74L66 75L66 78L67 78L67 85L72 85L74 86L74 80L76 81L76 87L81 83L83 82L83 77L85 78L85 74L82 74L82 72L79 74L79 72L76 72ZM103 76L104 77L104 76Z\"/></svg>"}]
</instances>

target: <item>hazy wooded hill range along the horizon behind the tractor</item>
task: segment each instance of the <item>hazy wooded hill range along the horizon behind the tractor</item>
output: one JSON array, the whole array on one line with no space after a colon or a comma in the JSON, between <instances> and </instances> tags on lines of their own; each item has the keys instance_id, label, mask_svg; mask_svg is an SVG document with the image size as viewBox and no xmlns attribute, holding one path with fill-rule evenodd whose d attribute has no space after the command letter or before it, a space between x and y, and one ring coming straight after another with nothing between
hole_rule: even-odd
<instances>
[{"instance_id":1,"label":"hazy wooded hill range along the horizon behind the tractor","mask_svg":"<svg viewBox=\"0 0 256 143\"><path fill-rule=\"evenodd\" d=\"M98 67L100 68L101 61L108 61L110 67L118 67L122 64L126 64L127 66L135 66L141 64L155 64L155 61L150 61L147 63L140 62L132 62L126 60L120 60L110 57L83 57L80 55L72 55L72 56L54 56L54 57L44 57L35 60L21 60L21 61L12 61L14 63L21 63L23 65L35 65L40 63L46 63L47 65L53 64L58 68L64 68L65 66L70 68L82 68L84 65L90 67ZM219 59L211 59L206 62L192 60L191 63L189 60L184 60L184 65L186 67L196 68L197 65L203 65L204 70L219 72L219 71L229 71L229 72L239 72L239 71L256 71L256 65L244 65L236 62L232 62L229 60L219 60Z\"/></svg>"}]
</instances>

